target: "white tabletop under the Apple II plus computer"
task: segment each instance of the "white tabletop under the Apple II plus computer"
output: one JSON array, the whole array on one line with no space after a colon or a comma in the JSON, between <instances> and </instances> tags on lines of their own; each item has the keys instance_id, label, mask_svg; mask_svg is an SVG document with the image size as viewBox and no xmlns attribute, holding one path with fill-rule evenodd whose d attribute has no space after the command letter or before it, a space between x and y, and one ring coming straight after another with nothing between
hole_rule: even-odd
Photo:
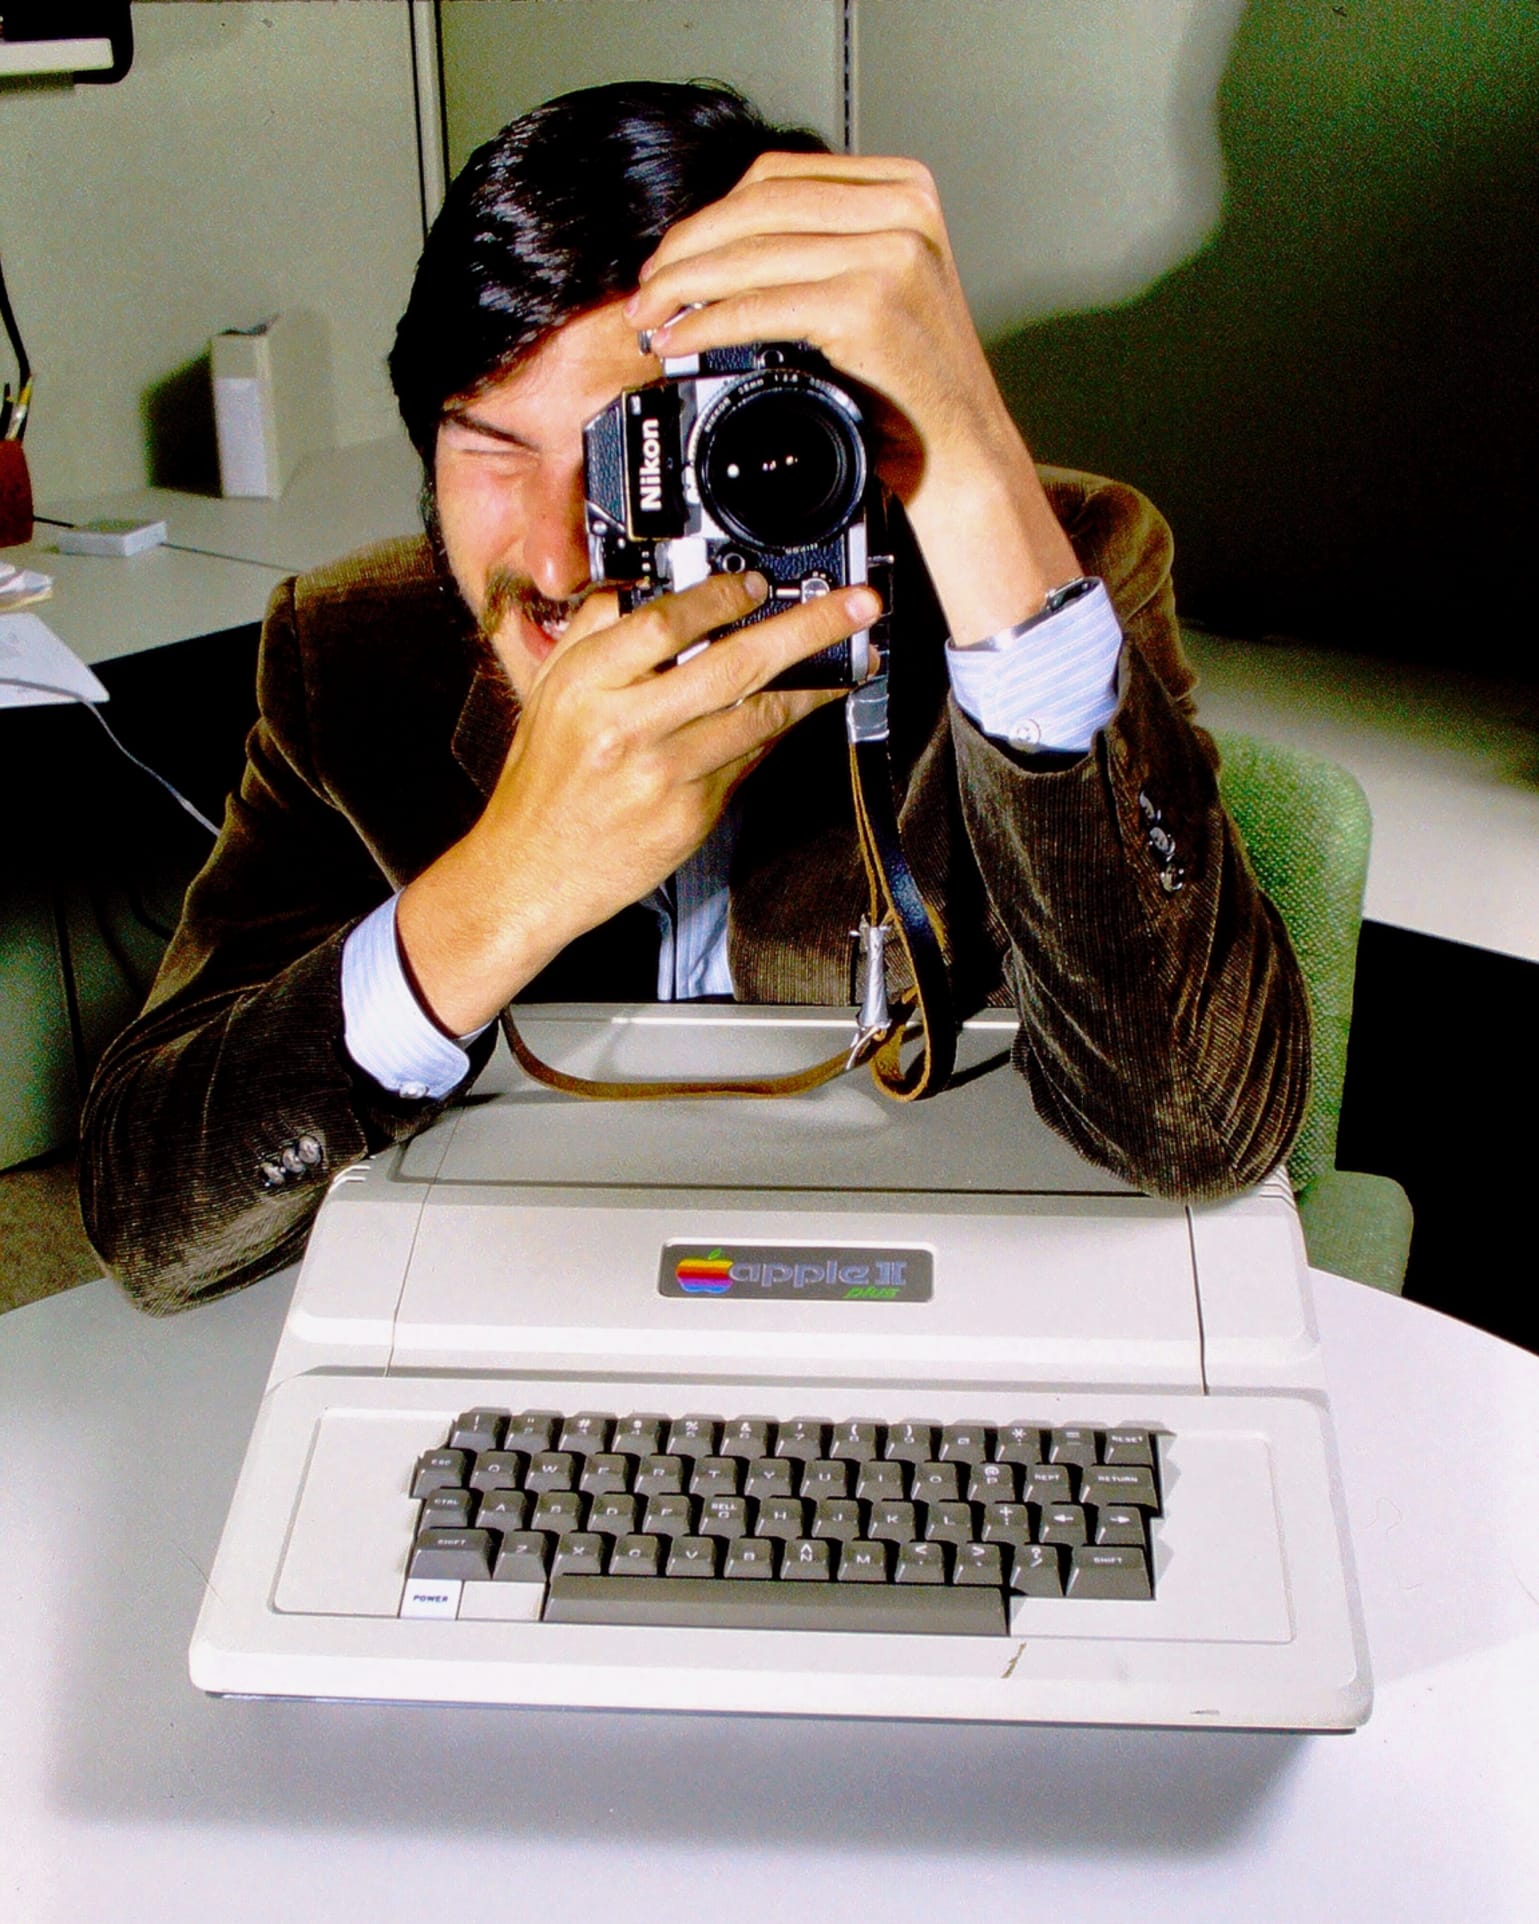
<instances>
[{"instance_id":1,"label":"white tabletop under the Apple II plus computer","mask_svg":"<svg viewBox=\"0 0 1539 1924\"><path fill-rule=\"evenodd\" d=\"M217 1916L1539 1916L1539 1358L1318 1278L1352 1735L221 1703L187 1641L287 1303L0 1318L0 1891Z\"/></svg>"}]
</instances>

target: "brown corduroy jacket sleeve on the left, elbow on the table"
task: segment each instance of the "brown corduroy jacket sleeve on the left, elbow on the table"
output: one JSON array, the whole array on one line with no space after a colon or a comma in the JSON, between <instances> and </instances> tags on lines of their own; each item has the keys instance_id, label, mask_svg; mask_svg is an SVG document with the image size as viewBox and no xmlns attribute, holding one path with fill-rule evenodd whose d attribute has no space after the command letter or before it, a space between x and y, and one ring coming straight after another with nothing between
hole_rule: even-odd
<instances>
[{"instance_id":1,"label":"brown corduroy jacket sleeve on the left, elbow on the table","mask_svg":"<svg viewBox=\"0 0 1539 1924\"><path fill-rule=\"evenodd\" d=\"M342 943L391 885L308 766L292 583L264 627L258 708L214 854L85 1106L87 1231L156 1314L294 1260L327 1181L442 1108L387 1093L342 1047Z\"/></svg>"}]
</instances>

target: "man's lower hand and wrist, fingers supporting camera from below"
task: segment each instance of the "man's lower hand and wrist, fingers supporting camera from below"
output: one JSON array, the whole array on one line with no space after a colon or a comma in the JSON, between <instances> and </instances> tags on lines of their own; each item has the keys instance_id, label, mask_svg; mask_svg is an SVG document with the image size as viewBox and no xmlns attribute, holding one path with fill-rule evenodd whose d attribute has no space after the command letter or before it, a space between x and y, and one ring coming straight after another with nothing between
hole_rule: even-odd
<instances>
[{"instance_id":1,"label":"man's lower hand and wrist, fingers supporting camera from below","mask_svg":"<svg viewBox=\"0 0 1539 1924\"><path fill-rule=\"evenodd\" d=\"M593 595L541 662L481 820L396 908L416 985L452 1035L656 889L779 737L837 698L768 683L868 627L871 589L754 621L668 668L764 593L758 575L712 575L629 616Z\"/></svg>"}]
</instances>

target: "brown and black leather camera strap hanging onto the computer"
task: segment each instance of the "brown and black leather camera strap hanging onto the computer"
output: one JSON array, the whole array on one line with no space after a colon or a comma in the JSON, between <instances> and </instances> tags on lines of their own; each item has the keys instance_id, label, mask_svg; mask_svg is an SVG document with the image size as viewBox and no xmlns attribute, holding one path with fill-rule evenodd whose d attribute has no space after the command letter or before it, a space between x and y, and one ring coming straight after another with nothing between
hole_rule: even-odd
<instances>
[{"instance_id":1,"label":"brown and black leather camera strap hanging onto the computer","mask_svg":"<svg viewBox=\"0 0 1539 1924\"><path fill-rule=\"evenodd\" d=\"M868 910L860 925L866 983L854 1041L837 1056L814 1062L789 1076L698 1081L598 1081L569 1076L542 1062L517 1033L510 1008L502 1010L502 1033L525 1076L546 1089L604 1102L664 1101L675 1097L802 1095L835 1076L870 1062L875 1085L896 1102L918 1102L945 1089L956 1060L956 1018L950 979L929 910L902 850L893 760L887 733L887 675L875 675L850 691L845 702L845 729L850 743L850 787L854 789L856 835L866 870ZM912 987L895 1000L887 995L887 941L896 937ZM918 1052L904 1066L904 1047Z\"/></svg>"}]
</instances>

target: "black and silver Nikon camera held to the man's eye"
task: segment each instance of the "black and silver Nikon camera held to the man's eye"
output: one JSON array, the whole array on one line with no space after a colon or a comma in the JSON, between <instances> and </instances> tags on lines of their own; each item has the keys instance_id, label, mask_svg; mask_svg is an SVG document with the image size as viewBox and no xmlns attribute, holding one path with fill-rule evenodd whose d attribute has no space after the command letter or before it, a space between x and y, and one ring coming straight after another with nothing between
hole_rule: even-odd
<instances>
[{"instance_id":1,"label":"black and silver Nikon camera held to the man's eye","mask_svg":"<svg viewBox=\"0 0 1539 1924\"><path fill-rule=\"evenodd\" d=\"M619 589L623 612L750 568L770 595L739 627L862 581L887 604L891 566L871 552L881 494L866 416L804 342L664 362L662 381L616 394L589 421L583 458L589 571ZM798 662L779 685L866 681L881 666L885 625Z\"/></svg>"}]
</instances>

